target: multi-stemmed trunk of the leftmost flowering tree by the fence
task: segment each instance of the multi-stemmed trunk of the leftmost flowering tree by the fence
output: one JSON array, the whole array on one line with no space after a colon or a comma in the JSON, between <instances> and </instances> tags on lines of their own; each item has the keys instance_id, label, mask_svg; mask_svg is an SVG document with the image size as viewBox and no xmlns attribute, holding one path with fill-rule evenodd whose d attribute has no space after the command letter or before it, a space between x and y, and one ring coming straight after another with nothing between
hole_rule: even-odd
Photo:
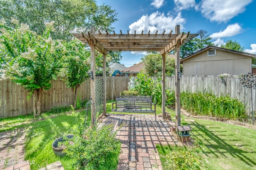
<instances>
[{"instance_id":1,"label":"multi-stemmed trunk of the leftmost flowering tree by the fence","mask_svg":"<svg viewBox=\"0 0 256 170\"><path fill-rule=\"evenodd\" d=\"M33 92L33 111L34 116L38 116L41 114L41 98L42 98L42 88L36 89Z\"/></svg>"}]
</instances>

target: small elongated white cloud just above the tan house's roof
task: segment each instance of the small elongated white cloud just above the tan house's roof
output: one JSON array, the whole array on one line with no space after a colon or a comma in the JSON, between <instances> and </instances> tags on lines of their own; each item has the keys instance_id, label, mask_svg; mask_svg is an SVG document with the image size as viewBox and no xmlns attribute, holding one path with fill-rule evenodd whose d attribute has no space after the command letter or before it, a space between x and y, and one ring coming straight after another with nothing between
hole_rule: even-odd
<instances>
[{"instance_id":1,"label":"small elongated white cloud just above the tan house's roof","mask_svg":"<svg viewBox=\"0 0 256 170\"><path fill-rule=\"evenodd\" d=\"M210 35L212 39L224 38L224 37L232 37L237 35L243 31L242 27L238 23L234 23L232 25L228 25L226 29L223 31L220 30L218 33L213 33Z\"/></svg>"}]
</instances>

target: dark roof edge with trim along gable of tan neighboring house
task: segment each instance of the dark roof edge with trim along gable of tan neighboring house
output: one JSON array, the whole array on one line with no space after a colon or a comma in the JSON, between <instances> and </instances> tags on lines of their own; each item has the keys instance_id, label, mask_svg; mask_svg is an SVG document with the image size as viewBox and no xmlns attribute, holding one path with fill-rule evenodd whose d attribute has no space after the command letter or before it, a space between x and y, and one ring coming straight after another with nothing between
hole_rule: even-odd
<instances>
[{"instance_id":1,"label":"dark roof edge with trim along gable of tan neighboring house","mask_svg":"<svg viewBox=\"0 0 256 170\"><path fill-rule=\"evenodd\" d=\"M240 55L245 55L245 56L248 56L248 57L252 57L252 64L256 64L256 54L251 54L251 53L245 53L245 52L242 52L242 51L235 51L235 50L230 50L230 49L225 49L225 48L221 48L221 47L216 47L216 46L208 46L208 47L205 47L204 49L200 50L200 51L197 51L196 53L193 53L183 59L180 60L180 63L183 63L183 61L186 61L187 59L191 58L191 57L195 57L196 55L204 52L204 51L207 51L209 49L217 49L217 50L222 50L222 51L227 51L227 52L230 52L230 53L236 53L236 54L240 54Z\"/></svg>"}]
</instances>

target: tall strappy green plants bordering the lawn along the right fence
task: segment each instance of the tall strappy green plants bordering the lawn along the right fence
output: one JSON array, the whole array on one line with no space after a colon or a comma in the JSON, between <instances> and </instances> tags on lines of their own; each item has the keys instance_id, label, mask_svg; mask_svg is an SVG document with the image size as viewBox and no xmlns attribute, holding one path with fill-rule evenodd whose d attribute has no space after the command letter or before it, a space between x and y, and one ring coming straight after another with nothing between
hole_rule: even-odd
<instances>
[{"instance_id":1,"label":"tall strappy green plants bordering the lawn along the right fence","mask_svg":"<svg viewBox=\"0 0 256 170\"><path fill-rule=\"evenodd\" d=\"M218 117L224 120L246 121L248 119L244 104L229 96L216 97L210 93L182 92L180 101L184 109L195 115Z\"/></svg>"}]
</instances>

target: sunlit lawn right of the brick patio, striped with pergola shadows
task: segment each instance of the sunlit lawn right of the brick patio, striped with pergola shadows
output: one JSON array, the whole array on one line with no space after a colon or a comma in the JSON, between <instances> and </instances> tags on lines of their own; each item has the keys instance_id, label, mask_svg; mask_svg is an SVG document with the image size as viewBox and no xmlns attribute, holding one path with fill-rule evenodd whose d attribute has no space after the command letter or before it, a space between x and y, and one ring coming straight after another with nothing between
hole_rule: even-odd
<instances>
[{"instance_id":1,"label":"sunlit lawn right of the brick patio, striped with pergola shadows","mask_svg":"<svg viewBox=\"0 0 256 170\"><path fill-rule=\"evenodd\" d=\"M174 111L170 111L173 120ZM194 121L185 121L192 119ZM174 120L175 121L175 120ZM222 122L181 116L182 125L192 127L192 138L198 141L203 161L209 170L256 170L256 133L254 129ZM162 163L170 148L159 148Z\"/></svg>"}]
</instances>

